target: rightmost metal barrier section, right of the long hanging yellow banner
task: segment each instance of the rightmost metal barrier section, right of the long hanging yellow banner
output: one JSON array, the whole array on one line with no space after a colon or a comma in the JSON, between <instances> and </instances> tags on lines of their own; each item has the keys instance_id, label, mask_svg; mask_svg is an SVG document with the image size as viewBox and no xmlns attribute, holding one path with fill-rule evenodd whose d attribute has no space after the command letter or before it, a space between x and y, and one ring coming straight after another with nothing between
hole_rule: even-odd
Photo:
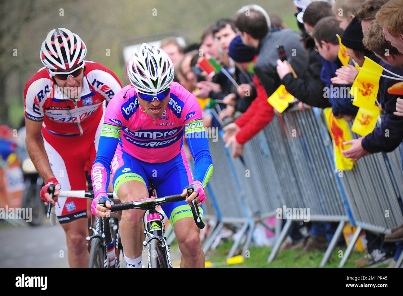
<instances>
[{"instance_id":1,"label":"rightmost metal barrier section, right of the long hanging yellow banner","mask_svg":"<svg viewBox=\"0 0 403 296\"><path fill-rule=\"evenodd\" d=\"M351 124L349 124L351 128ZM351 132L353 139L360 136ZM403 224L398 198L402 197L403 174L398 149L390 153L374 153L355 162L352 170L341 178L355 225L353 235L339 267L349 257L361 230L387 234Z\"/></svg>"}]
</instances>

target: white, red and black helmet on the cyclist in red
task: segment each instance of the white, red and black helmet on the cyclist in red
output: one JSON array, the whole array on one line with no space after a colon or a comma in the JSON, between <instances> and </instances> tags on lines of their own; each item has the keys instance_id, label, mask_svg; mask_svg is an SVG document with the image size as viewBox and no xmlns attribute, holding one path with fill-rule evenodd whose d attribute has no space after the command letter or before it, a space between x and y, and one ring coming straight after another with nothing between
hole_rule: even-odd
<instances>
[{"instance_id":1,"label":"white, red and black helmet on the cyclist in red","mask_svg":"<svg viewBox=\"0 0 403 296\"><path fill-rule=\"evenodd\" d=\"M52 70L71 69L81 63L87 54L87 47L79 35L65 28L53 29L42 43L40 58L42 64Z\"/></svg>"}]
</instances>

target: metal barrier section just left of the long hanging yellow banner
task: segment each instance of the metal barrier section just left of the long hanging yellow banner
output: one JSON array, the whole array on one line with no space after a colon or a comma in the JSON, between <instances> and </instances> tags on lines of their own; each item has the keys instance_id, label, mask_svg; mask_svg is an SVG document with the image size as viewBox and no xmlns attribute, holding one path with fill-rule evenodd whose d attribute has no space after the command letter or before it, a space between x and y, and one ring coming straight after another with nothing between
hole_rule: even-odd
<instances>
[{"instance_id":1,"label":"metal barrier section just left of the long hanging yellow banner","mask_svg":"<svg viewBox=\"0 0 403 296\"><path fill-rule=\"evenodd\" d=\"M276 159L274 167L277 174L281 176L283 184L287 184L282 186L284 205L291 209L309 209L310 221L339 223L322 259L321 266L324 266L342 234L348 216L343 205L342 190L332 168L329 147L326 147L330 141L324 141L322 128L313 110L291 110L274 117L264 132L270 153ZM290 189L293 192L289 192ZM301 217L287 219L268 262L274 260L291 223L301 220Z\"/></svg>"}]
</instances>

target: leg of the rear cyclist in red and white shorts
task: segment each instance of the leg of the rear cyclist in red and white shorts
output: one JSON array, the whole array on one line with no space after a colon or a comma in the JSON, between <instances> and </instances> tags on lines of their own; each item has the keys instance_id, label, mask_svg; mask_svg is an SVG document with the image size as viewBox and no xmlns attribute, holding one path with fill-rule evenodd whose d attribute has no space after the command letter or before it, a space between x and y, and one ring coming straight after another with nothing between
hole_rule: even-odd
<instances>
[{"instance_id":1,"label":"leg of the rear cyclist in red and white shorts","mask_svg":"<svg viewBox=\"0 0 403 296\"><path fill-rule=\"evenodd\" d=\"M77 147L78 137L61 139L44 135L44 146L54 176L62 190L84 190L84 160ZM74 138L74 139L73 139ZM62 141L63 140L63 141ZM69 145L71 144L71 145ZM55 205L56 215L66 234L70 267L87 267L89 253L85 237L88 235L87 201L60 197Z\"/></svg>"}]
</instances>

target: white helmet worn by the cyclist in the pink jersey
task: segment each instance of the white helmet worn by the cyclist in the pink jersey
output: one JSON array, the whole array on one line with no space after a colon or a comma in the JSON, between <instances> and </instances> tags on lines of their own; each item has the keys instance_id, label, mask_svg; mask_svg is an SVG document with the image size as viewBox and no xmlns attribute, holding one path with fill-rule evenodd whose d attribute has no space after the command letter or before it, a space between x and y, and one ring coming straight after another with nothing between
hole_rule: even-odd
<instances>
[{"instance_id":1,"label":"white helmet worn by the cyclist in the pink jersey","mask_svg":"<svg viewBox=\"0 0 403 296\"><path fill-rule=\"evenodd\" d=\"M143 43L127 63L127 76L137 92L157 94L172 83L174 66L161 48Z\"/></svg>"}]
</instances>

